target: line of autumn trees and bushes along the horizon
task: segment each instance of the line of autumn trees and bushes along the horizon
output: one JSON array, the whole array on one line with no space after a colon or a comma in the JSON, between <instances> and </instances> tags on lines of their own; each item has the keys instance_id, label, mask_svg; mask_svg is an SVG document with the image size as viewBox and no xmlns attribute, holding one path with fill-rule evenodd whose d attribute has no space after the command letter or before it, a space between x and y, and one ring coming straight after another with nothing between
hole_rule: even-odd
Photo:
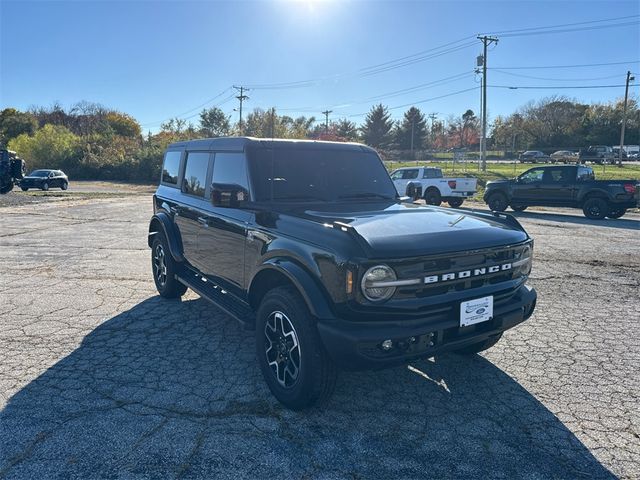
<instances>
[{"instance_id":1,"label":"line of autumn trees and bushes along the horizon","mask_svg":"<svg viewBox=\"0 0 640 480\"><path fill-rule=\"evenodd\" d=\"M488 146L511 151L616 145L621 122L620 101L587 105L549 97L496 117ZM390 159L411 158L412 151L474 150L479 130L478 115L472 110L429 125L416 107L394 121L382 104L373 106L361 125L337 118L327 126L313 116L280 115L275 108L250 111L242 125L243 134L254 137L363 142ZM72 179L154 181L168 144L238 133L239 125L215 107L202 110L195 124L172 118L153 134L144 134L138 121L126 113L86 101L68 109L54 104L0 111L0 144L15 150L29 169L62 169ZM635 99L629 101L626 143L640 143L640 109Z\"/></svg>"}]
</instances>

